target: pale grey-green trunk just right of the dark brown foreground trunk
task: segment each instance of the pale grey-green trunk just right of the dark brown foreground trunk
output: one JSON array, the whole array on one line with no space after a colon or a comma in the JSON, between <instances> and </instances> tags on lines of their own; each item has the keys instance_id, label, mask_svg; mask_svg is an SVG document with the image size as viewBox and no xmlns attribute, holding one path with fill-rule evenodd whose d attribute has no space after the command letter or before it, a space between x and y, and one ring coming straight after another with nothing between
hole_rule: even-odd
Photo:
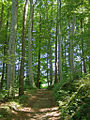
<instances>
[{"instance_id":1,"label":"pale grey-green trunk just right of the dark brown foreground trunk","mask_svg":"<svg viewBox=\"0 0 90 120\"><path fill-rule=\"evenodd\" d=\"M32 68L32 21L33 21L33 0L30 0L30 17L28 26L28 68L29 68L29 84L34 87L34 77Z\"/></svg>"}]
</instances>

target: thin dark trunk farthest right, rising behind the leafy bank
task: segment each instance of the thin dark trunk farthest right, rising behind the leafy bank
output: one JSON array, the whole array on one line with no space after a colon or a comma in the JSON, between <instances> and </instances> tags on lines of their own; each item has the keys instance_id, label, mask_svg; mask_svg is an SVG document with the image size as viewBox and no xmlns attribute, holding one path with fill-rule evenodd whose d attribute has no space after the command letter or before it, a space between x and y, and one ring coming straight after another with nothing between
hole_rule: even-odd
<instances>
[{"instance_id":1,"label":"thin dark trunk farthest right, rising behind the leafy bank","mask_svg":"<svg viewBox=\"0 0 90 120\"><path fill-rule=\"evenodd\" d=\"M85 56L84 56L84 41L83 41L83 20L81 18L81 32L82 32L82 37L81 37L81 45L82 45L82 62L83 62L83 72L86 73L86 62L85 62Z\"/></svg>"}]
</instances>

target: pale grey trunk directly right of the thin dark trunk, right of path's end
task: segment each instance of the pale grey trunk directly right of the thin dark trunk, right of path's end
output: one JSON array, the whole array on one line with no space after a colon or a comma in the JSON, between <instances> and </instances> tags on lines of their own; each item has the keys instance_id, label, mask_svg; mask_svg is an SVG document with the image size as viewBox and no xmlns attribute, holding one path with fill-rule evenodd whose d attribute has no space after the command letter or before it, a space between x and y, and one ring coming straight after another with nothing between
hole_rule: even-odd
<instances>
[{"instance_id":1,"label":"pale grey trunk directly right of the thin dark trunk, right of path's end","mask_svg":"<svg viewBox=\"0 0 90 120\"><path fill-rule=\"evenodd\" d=\"M58 76L62 80L62 37L61 37L61 0L57 0L58 6Z\"/></svg>"}]
</instances>

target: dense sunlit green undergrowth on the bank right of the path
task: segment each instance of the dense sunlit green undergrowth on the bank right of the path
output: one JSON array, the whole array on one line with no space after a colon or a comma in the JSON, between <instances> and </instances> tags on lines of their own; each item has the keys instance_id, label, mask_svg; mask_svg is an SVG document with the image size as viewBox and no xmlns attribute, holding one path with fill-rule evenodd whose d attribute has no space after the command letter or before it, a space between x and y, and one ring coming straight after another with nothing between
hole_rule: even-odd
<instances>
[{"instance_id":1,"label":"dense sunlit green undergrowth on the bank right of the path","mask_svg":"<svg viewBox=\"0 0 90 120\"><path fill-rule=\"evenodd\" d=\"M64 120L89 120L90 112L90 79L86 75L81 80L60 82L53 89Z\"/></svg>"}]
</instances>

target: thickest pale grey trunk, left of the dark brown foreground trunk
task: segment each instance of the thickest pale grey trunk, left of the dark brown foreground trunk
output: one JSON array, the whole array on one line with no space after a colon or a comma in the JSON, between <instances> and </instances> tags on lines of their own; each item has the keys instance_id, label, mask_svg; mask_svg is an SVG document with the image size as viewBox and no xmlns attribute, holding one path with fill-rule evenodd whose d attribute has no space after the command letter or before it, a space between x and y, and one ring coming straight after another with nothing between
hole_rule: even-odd
<instances>
[{"instance_id":1,"label":"thickest pale grey trunk, left of the dark brown foreground trunk","mask_svg":"<svg viewBox=\"0 0 90 120\"><path fill-rule=\"evenodd\" d=\"M7 89L9 96L14 95L14 80L15 80L15 45L16 45L16 30L17 30L17 6L18 0L12 0L11 10L11 29L9 39L9 64L7 71Z\"/></svg>"}]
</instances>

